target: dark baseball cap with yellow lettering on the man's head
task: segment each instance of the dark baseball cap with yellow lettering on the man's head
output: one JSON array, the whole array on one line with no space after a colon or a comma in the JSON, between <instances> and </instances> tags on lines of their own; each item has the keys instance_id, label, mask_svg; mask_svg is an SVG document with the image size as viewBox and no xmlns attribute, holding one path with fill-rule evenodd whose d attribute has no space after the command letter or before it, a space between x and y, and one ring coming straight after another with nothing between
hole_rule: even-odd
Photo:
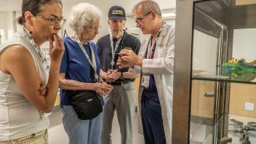
<instances>
[{"instance_id":1,"label":"dark baseball cap with yellow lettering on the man's head","mask_svg":"<svg viewBox=\"0 0 256 144\"><path fill-rule=\"evenodd\" d=\"M115 19L127 20L123 7L116 5L116 6L112 6L111 9L109 9L108 20L115 20Z\"/></svg>"}]
</instances>

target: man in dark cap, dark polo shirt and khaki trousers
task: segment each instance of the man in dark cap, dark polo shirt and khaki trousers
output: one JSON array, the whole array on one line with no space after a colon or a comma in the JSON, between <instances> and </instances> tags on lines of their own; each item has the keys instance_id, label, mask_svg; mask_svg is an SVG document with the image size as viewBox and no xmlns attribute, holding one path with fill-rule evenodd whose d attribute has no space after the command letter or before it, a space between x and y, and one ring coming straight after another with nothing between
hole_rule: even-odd
<instances>
[{"instance_id":1,"label":"man in dark cap, dark polo shirt and khaki trousers","mask_svg":"<svg viewBox=\"0 0 256 144\"><path fill-rule=\"evenodd\" d=\"M121 49L132 49L139 52L140 41L124 31L126 16L124 8L113 6L108 12L108 25L111 33L97 41L100 57L100 77L113 86L113 90L105 95L103 108L103 132L101 144L111 143L111 129L116 111L121 131L121 143L132 143L132 124L135 114L135 74L128 68L118 69L116 61Z\"/></svg>"}]
</instances>

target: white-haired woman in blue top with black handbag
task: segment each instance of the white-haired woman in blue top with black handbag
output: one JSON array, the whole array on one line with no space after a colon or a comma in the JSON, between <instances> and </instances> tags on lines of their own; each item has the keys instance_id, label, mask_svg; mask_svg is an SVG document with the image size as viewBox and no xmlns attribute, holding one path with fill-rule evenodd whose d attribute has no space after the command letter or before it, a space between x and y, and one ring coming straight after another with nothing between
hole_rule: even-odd
<instances>
[{"instance_id":1,"label":"white-haired woman in blue top with black handbag","mask_svg":"<svg viewBox=\"0 0 256 144\"><path fill-rule=\"evenodd\" d=\"M97 46L91 41L98 34L100 17L101 11L94 5L77 4L68 19L75 33L63 39L60 106L70 143L99 143L104 103L101 95L113 89L111 85L99 82L100 60ZM88 97L91 94L92 97Z\"/></svg>"}]
</instances>

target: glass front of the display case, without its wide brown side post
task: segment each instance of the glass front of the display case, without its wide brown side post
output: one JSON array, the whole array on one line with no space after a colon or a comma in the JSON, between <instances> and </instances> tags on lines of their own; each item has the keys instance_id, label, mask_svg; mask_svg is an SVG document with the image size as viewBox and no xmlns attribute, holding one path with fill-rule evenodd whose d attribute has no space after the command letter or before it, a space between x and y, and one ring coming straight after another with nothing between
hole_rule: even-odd
<instances>
[{"instance_id":1,"label":"glass front of the display case, without its wide brown side post","mask_svg":"<svg viewBox=\"0 0 256 144\"><path fill-rule=\"evenodd\" d=\"M189 143L256 143L256 4L239 2L193 2Z\"/></svg>"}]
</instances>

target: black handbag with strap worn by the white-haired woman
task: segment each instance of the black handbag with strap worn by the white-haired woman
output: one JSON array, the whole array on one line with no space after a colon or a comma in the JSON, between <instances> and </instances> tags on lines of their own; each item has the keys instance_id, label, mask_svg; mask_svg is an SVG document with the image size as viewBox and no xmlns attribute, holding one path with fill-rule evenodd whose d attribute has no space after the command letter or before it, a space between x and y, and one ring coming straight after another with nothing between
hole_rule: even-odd
<instances>
[{"instance_id":1,"label":"black handbag with strap worn by the white-haired woman","mask_svg":"<svg viewBox=\"0 0 256 144\"><path fill-rule=\"evenodd\" d=\"M91 50L89 49L91 52ZM92 59L92 52L90 55ZM95 71L90 65L91 82L96 82ZM66 90L73 110L81 120L94 119L103 111L103 106L100 103L100 95L93 90Z\"/></svg>"}]
</instances>

